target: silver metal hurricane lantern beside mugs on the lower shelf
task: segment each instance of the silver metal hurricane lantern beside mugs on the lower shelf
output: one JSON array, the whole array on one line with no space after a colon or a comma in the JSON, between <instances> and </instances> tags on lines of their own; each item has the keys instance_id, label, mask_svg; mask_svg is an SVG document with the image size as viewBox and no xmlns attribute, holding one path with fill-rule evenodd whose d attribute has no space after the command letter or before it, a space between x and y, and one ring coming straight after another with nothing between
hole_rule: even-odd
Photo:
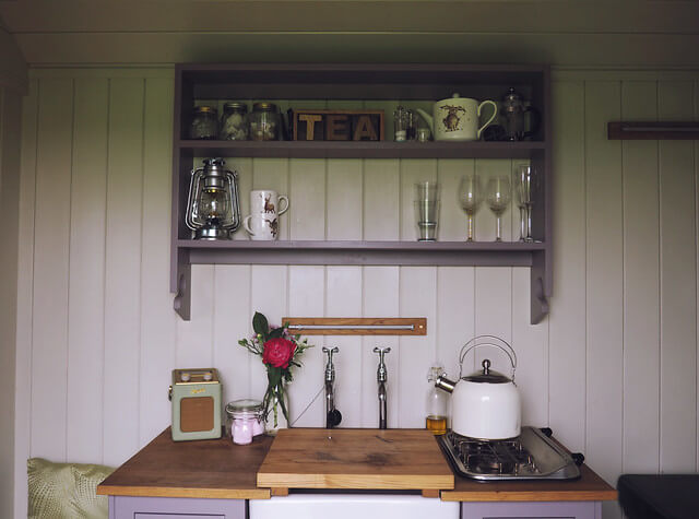
<instances>
[{"instance_id":1,"label":"silver metal hurricane lantern beside mugs on the lower shelf","mask_svg":"<svg viewBox=\"0 0 699 519\"><path fill-rule=\"evenodd\" d=\"M206 158L192 170L185 223L194 239L230 239L240 225L238 174L223 158Z\"/></svg>"}]
</instances>

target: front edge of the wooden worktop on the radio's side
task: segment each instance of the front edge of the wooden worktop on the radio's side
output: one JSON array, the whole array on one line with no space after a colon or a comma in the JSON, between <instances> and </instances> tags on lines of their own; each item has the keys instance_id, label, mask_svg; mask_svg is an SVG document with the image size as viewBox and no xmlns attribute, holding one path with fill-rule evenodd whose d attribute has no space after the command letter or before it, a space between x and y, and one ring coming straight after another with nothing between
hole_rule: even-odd
<instances>
[{"instance_id":1,"label":"front edge of the wooden worktop on the radio's side","mask_svg":"<svg viewBox=\"0 0 699 519\"><path fill-rule=\"evenodd\" d=\"M196 497L206 499L269 499L270 488L191 488L173 486L98 485L98 495L131 497Z\"/></svg>"}]
</instances>

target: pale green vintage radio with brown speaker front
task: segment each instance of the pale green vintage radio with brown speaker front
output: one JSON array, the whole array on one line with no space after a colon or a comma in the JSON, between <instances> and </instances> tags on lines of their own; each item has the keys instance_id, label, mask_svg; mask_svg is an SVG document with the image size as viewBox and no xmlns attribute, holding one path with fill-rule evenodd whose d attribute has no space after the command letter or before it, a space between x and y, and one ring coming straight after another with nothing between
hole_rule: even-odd
<instances>
[{"instance_id":1,"label":"pale green vintage radio with brown speaker front","mask_svg":"<svg viewBox=\"0 0 699 519\"><path fill-rule=\"evenodd\" d=\"M221 438L221 381L214 368L173 369L173 439Z\"/></svg>"}]
</instances>

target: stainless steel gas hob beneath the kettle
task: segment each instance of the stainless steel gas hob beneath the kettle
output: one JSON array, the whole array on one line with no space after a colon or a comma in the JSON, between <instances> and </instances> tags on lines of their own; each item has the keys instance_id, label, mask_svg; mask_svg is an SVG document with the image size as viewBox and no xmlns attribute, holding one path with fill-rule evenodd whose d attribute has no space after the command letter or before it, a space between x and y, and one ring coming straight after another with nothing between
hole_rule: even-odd
<instances>
[{"instance_id":1,"label":"stainless steel gas hob beneath the kettle","mask_svg":"<svg viewBox=\"0 0 699 519\"><path fill-rule=\"evenodd\" d=\"M507 440L478 440L448 432L439 445L457 473L482 481L572 480L584 457L569 455L550 438L550 429L522 427Z\"/></svg>"}]
</instances>

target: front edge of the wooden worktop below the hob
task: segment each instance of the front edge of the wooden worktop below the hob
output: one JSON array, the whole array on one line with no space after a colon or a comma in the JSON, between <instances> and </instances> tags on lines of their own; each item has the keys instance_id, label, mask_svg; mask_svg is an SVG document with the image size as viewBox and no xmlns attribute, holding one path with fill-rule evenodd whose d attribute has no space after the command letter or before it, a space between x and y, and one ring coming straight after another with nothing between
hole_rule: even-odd
<instances>
[{"instance_id":1,"label":"front edge of the wooden worktop below the hob","mask_svg":"<svg viewBox=\"0 0 699 519\"><path fill-rule=\"evenodd\" d=\"M603 502L617 500L618 493L609 491L442 491L443 502Z\"/></svg>"}]
</instances>

